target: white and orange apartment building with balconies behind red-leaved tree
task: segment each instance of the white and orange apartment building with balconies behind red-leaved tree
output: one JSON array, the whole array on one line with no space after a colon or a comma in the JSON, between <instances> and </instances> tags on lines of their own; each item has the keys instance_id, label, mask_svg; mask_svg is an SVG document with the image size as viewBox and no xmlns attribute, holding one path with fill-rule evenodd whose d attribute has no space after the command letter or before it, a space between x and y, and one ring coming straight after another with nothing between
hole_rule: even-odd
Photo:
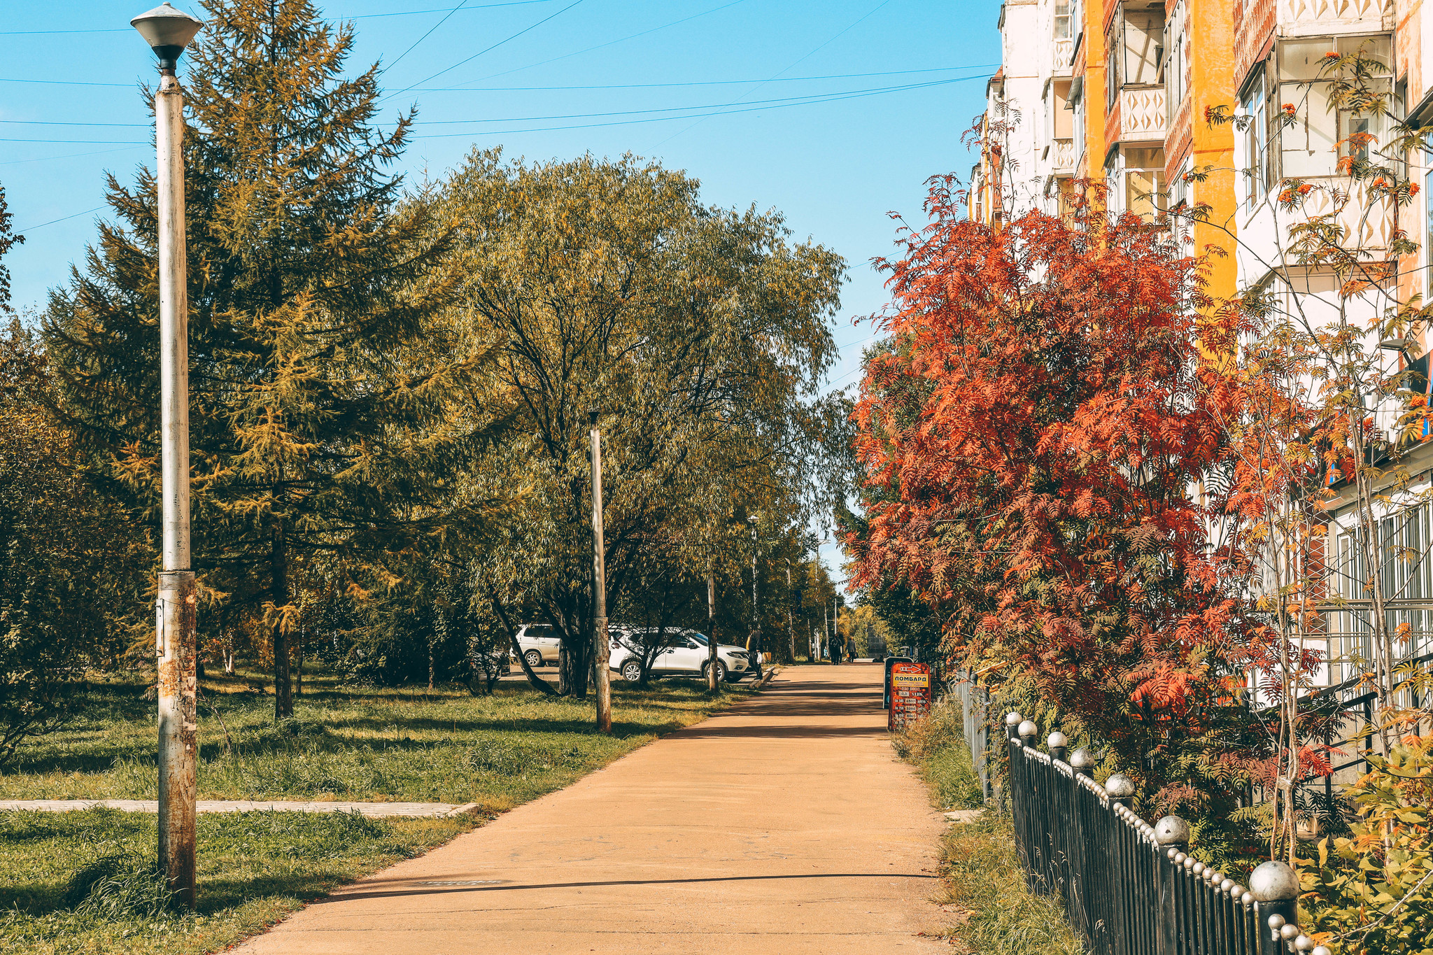
<instances>
[{"instance_id":1,"label":"white and orange apartment building with balconies behind red-leaved tree","mask_svg":"<svg viewBox=\"0 0 1433 955\"><path fill-rule=\"evenodd\" d=\"M1423 69L1433 64L1429 7L1414 0L1007 0L1000 31L1003 64L987 87L972 218L997 222L1029 209L1059 215L1080 180L1099 180L1112 213L1154 219L1172 212L1197 251L1219 249L1209 259L1217 296L1271 288L1290 309L1317 319L1320 309L1344 308L1353 322L1414 296L1433 301L1433 162L1404 157L1422 185L1407 205L1370 199L1340 166L1386 143L1397 119L1433 126L1433 67ZM1387 76L1373 83L1384 84L1391 117L1331 107L1327 60L1356 50L1383 64ZM1357 133L1376 139L1350 143ZM1278 202L1291 180L1311 186L1303 209ZM1295 226L1337 203L1344 242L1370 273L1391 276L1356 295L1328 269L1300 265L1290 253ZM1178 215L1192 208L1208 215ZM1400 255L1400 236L1417 251ZM1366 346L1383 355L1389 372L1414 369L1404 387L1427 394L1429 344L1419 328ZM1393 447L1406 402L1376 398L1369 414L1376 447L1383 441L1376 454L1396 460L1401 472L1380 504L1374 550L1387 567L1390 620L1412 627L1401 651L1416 656L1433 650L1433 441ZM1326 596L1348 601L1326 614L1330 663L1320 680L1333 684L1354 676L1357 659L1369 656L1370 594L1360 547L1369 528L1358 527L1348 483L1330 474L1328 487Z\"/></svg>"}]
</instances>

